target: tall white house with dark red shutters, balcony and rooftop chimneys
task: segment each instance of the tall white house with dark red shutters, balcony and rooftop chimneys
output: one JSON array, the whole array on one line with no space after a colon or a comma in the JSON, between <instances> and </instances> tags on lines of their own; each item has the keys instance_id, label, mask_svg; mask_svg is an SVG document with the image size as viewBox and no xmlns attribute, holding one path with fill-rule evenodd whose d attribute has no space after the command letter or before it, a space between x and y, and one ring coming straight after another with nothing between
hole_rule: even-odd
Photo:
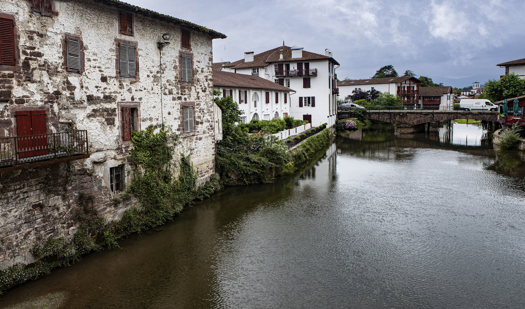
<instances>
[{"instance_id":1,"label":"tall white house with dark red shutters, balcony and rooftop chimneys","mask_svg":"<svg viewBox=\"0 0 525 309\"><path fill-rule=\"evenodd\" d=\"M336 66L339 63L328 49L320 55L283 45L260 54L247 52L244 59L222 67L295 89L297 92L290 96L290 115L314 126L328 123L331 127L337 119Z\"/></svg>"}]
</instances>

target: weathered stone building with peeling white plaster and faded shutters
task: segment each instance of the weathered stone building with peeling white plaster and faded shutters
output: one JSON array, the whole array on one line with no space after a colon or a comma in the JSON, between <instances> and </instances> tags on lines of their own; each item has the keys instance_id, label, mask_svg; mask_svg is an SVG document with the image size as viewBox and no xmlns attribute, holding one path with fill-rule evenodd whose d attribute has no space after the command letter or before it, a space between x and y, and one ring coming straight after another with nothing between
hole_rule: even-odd
<instances>
[{"instance_id":1,"label":"weathered stone building with peeling white plaster and faded shutters","mask_svg":"<svg viewBox=\"0 0 525 309\"><path fill-rule=\"evenodd\" d=\"M83 199L120 219L133 130L164 122L209 179L212 39L225 37L116 0L0 2L0 267L71 237Z\"/></svg>"}]
</instances>

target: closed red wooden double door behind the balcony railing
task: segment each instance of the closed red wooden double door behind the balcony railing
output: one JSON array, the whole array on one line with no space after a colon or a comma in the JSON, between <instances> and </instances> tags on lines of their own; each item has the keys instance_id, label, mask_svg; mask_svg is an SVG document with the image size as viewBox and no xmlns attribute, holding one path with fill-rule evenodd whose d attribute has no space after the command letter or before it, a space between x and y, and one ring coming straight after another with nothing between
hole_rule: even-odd
<instances>
[{"instance_id":1,"label":"closed red wooden double door behind the balcony railing","mask_svg":"<svg viewBox=\"0 0 525 309\"><path fill-rule=\"evenodd\" d=\"M19 158L48 154L45 110L17 111L16 133Z\"/></svg>"}]
</instances>

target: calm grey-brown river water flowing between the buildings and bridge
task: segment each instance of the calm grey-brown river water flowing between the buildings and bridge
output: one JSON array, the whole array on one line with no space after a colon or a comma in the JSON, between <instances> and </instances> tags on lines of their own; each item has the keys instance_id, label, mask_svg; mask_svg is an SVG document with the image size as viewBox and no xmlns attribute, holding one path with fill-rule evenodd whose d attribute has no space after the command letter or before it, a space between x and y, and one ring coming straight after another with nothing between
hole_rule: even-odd
<instances>
[{"instance_id":1,"label":"calm grey-brown river water flowing between the buildings and bridge","mask_svg":"<svg viewBox=\"0 0 525 309\"><path fill-rule=\"evenodd\" d=\"M60 308L523 308L525 164L477 126L451 133L338 137L0 306L61 291Z\"/></svg>"}]
</instances>

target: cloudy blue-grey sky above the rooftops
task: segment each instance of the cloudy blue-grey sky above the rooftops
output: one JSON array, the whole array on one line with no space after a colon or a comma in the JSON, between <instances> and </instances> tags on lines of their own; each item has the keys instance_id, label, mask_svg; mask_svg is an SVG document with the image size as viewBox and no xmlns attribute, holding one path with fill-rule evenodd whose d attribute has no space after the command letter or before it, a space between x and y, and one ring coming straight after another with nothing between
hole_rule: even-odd
<instances>
[{"instance_id":1,"label":"cloudy blue-grey sky above the rooftops","mask_svg":"<svg viewBox=\"0 0 525 309\"><path fill-rule=\"evenodd\" d=\"M206 26L214 62L282 45L324 54L339 79L370 78L384 65L400 75L468 77L505 74L496 64L525 58L525 0L493 1L210 1L124 0ZM482 81L484 82L484 81Z\"/></svg>"}]
</instances>

